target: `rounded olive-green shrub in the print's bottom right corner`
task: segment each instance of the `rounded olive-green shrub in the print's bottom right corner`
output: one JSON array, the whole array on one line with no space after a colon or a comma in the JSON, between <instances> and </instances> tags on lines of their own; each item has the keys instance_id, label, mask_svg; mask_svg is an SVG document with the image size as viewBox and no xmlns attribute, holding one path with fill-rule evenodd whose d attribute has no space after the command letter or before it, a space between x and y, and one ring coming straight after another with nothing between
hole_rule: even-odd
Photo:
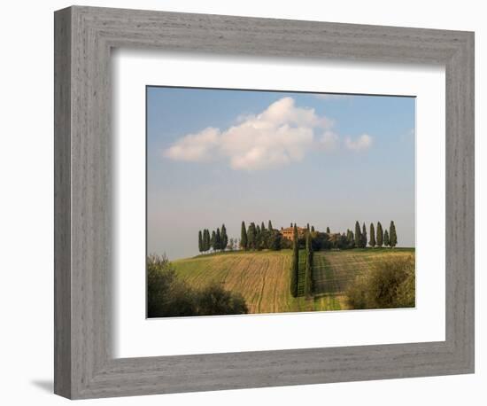
<instances>
[{"instance_id":1,"label":"rounded olive-green shrub in the print's bottom right corner","mask_svg":"<svg viewBox=\"0 0 487 406\"><path fill-rule=\"evenodd\" d=\"M413 308L414 257L377 263L370 272L356 277L345 294L350 308Z\"/></svg>"}]
</instances>

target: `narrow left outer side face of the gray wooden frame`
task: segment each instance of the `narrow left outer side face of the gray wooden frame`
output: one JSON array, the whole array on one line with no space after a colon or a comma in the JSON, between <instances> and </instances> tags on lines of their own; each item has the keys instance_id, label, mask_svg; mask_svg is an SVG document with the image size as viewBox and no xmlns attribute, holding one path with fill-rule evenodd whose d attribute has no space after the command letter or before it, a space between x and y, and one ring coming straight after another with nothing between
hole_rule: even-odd
<instances>
[{"instance_id":1,"label":"narrow left outer side face of the gray wooden frame","mask_svg":"<svg viewBox=\"0 0 487 406\"><path fill-rule=\"evenodd\" d=\"M71 395L71 12L54 21L54 391Z\"/></svg>"}]
</instances>

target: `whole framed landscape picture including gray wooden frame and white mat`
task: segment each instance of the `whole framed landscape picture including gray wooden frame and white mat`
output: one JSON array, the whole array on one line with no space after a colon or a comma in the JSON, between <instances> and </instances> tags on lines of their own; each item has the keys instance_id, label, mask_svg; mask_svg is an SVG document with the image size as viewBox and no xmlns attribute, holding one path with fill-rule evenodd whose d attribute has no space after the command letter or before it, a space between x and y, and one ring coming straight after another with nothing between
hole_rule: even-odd
<instances>
[{"instance_id":1,"label":"whole framed landscape picture including gray wooden frame and white mat","mask_svg":"<svg viewBox=\"0 0 487 406\"><path fill-rule=\"evenodd\" d=\"M55 392L474 371L474 34L55 13Z\"/></svg>"}]
</instances>

